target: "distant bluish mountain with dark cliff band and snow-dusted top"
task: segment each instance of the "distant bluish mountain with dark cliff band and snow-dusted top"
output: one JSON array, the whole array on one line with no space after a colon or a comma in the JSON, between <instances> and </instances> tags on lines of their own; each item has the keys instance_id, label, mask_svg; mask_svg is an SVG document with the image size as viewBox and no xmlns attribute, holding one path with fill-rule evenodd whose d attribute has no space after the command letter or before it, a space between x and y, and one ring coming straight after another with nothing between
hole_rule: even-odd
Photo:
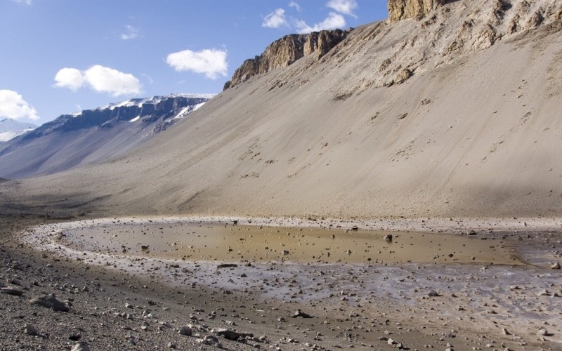
<instances>
[{"instance_id":1,"label":"distant bluish mountain with dark cliff band and snow-dusted top","mask_svg":"<svg viewBox=\"0 0 562 351\"><path fill-rule=\"evenodd\" d=\"M173 126L212 96L155 96L63 114L1 144L0 176L55 173L122 154Z\"/></svg>"}]
</instances>

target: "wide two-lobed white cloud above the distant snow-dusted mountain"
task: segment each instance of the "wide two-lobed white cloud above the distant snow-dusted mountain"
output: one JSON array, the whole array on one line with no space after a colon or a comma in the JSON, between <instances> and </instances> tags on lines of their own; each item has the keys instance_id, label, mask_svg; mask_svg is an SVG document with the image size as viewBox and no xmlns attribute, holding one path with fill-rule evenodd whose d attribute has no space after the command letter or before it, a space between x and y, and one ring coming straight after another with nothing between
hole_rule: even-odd
<instances>
[{"instance_id":1,"label":"wide two-lobed white cloud above the distant snow-dusted mountain","mask_svg":"<svg viewBox=\"0 0 562 351\"><path fill-rule=\"evenodd\" d=\"M98 93L109 93L112 96L136 95L141 93L141 81L133 74L119 72L117 69L95 65L79 71L76 68L60 69L55 75L55 86L77 91L89 86Z\"/></svg>"}]
</instances>

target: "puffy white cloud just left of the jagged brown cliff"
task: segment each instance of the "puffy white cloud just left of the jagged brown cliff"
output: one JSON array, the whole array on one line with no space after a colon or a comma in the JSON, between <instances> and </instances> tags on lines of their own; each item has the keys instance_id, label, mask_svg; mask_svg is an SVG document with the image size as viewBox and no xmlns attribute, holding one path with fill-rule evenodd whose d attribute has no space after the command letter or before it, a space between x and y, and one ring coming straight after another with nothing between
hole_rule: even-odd
<instances>
[{"instance_id":1,"label":"puffy white cloud just left of the jagged brown cliff","mask_svg":"<svg viewBox=\"0 0 562 351\"><path fill-rule=\"evenodd\" d=\"M184 50L171 53L166 57L166 63L178 72L191 71L204 74L210 79L218 76L226 77L228 63L226 63L226 50L214 48L202 51Z\"/></svg>"}]
</instances>

